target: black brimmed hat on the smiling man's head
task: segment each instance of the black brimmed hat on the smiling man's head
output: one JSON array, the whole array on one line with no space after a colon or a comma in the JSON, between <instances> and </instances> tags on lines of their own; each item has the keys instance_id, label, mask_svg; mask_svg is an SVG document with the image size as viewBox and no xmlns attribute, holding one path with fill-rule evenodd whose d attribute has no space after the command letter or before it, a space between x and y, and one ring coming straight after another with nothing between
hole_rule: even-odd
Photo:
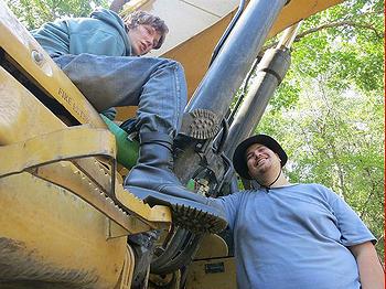
<instances>
[{"instance_id":1,"label":"black brimmed hat on the smiling man's head","mask_svg":"<svg viewBox=\"0 0 386 289\"><path fill-rule=\"evenodd\" d=\"M247 167L247 160L245 152L246 150L254 143L259 143L271 151L276 152L281 161L281 167L285 167L287 163L288 157L286 151L281 148L279 142L277 142L274 138L266 136L266 135L256 135L250 138L247 138L246 140L242 141L233 154L233 165L235 167L236 172L239 176L251 180L249 173L248 173L248 167Z\"/></svg>"}]
</instances>

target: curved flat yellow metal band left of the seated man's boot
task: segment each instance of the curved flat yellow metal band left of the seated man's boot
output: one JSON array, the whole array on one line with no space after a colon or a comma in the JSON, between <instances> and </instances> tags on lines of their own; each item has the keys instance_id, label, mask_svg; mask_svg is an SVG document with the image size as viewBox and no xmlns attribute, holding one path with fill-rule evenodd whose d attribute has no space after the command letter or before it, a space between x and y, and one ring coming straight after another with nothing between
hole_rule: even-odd
<instances>
[{"instance_id":1,"label":"curved flat yellow metal band left of the seated man's boot","mask_svg":"<svg viewBox=\"0 0 386 289\"><path fill-rule=\"evenodd\" d=\"M0 147L0 178L31 167L97 154L115 158L116 143L111 132L86 126L66 128Z\"/></svg>"}]
</instances>

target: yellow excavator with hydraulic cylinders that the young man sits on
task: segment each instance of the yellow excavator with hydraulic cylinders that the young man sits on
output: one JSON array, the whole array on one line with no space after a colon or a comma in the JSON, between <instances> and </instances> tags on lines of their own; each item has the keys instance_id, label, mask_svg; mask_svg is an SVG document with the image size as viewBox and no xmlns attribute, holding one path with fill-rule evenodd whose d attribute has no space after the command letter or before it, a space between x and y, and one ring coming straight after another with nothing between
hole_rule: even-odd
<instances>
[{"instance_id":1,"label":"yellow excavator with hydraulic cylinders that the young man sits on","mask_svg":"<svg viewBox=\"0 0 386 289\"><path fill-rule=\"evenodd\" d=\"M150 56L182 63L185 115L201 109L214 128L191 139L192 120L182 125L175 173L192 193L237 190L229 158L285 76L298 23L340 2L128 3L165 20L171 33ZM265 41L282 31L262 56ZM0 63L0 288L236 288L227 232L189 232L169 207L124 190L138 143L94 109L2 1ZM257 81L229 109L251 71ZM119 108L118 119L135 109ZM146 240L128 243L144 232L159 235L150 261L141 258Z\"/></svg>"}]
</instances>

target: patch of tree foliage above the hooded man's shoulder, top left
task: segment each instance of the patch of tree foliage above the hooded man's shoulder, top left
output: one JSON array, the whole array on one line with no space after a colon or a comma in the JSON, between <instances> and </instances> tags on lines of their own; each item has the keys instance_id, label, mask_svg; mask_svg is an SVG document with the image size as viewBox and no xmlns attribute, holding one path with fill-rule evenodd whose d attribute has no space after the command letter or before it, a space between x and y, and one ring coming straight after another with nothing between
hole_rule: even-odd
<instances>
[{"instance_id":1,"label":"patch of tree foliage above the hooded man's shoulder, top left","mask_svg":"<svg viewBox=\"0 0 386 289\"><path fill-rule=\"evenodd\" d=\"M8 7L29 29L64 17L88 17L95 7L108 8L107 0L6 0Z\"/></svg>"}]
</instances>

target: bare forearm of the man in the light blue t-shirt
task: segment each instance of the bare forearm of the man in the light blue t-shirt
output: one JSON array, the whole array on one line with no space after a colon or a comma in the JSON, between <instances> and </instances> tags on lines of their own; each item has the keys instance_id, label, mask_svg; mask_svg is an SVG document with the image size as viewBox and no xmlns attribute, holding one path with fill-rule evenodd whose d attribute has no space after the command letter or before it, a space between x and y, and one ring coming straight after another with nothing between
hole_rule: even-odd
<instances>
[{"instance_id":1,"label":"bare forearm of the man in the light blue t-shirt","mask_svg":"<svg viewBox=\"0 0 386 289\"><path fill-rule=\"evenodd\" d=\"M385 275L374 245L371 242L365 242L349 248L360 269L362 289L384 289Z\"/></svg>"}]
</instances>

